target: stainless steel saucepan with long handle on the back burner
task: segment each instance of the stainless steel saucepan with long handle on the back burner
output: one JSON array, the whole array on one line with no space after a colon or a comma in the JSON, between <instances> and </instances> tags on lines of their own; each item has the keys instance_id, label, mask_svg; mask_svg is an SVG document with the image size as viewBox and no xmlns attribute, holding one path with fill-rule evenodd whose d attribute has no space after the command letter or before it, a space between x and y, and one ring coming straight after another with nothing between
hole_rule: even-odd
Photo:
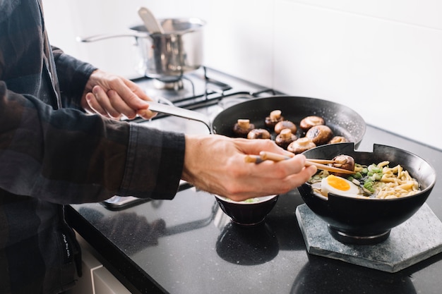
<instances>
[{"instance_id":1,"label":"stainless steel saucepan with long handle on the back burner","mask_svg":"<svg viewBox=\"0 0 442 294\"><path fill-rule=\"evenodd\" d=\"M139 60L136 69L141 75L163 81L177 80L184 73L203 64L203 27L199 18L160 19L165 33L150 34L144 25L129 28L120 34L80 37L80 42L95 42L112 37L135 37Z\"/></svg>"}]
</instances>

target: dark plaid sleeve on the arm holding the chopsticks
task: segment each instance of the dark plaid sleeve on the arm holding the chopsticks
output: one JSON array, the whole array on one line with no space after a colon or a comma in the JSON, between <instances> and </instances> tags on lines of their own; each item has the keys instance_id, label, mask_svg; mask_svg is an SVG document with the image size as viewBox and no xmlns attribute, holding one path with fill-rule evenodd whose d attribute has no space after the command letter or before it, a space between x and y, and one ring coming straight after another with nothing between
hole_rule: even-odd
<instances>
[{"instance_id":1,"label":"dark plaid sleeve on the arm holding the chopsticks","mask_svg":"<svg viewBox=\"0 0 442 294\"><path fill-rule=\"evenodd\" d=\"M0 188L61 204L172 199L184 135L57 109L0 81Z\"/></svg>"}]
</instances>

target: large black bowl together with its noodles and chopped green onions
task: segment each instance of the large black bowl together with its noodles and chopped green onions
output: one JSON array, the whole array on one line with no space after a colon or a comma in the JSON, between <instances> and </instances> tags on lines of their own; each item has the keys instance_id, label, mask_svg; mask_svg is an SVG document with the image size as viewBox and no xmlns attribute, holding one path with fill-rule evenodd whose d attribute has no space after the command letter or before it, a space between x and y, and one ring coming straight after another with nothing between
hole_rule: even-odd
<instances>
[{"instance_id":1,"label":"large black bowl together with its noodles and chopped green onions","mask_svg":"<svg viewBox=\"0 0 442 294\"><path fill-rule=\"evenodd\" d=\"M323 145L304 152L308 159L330 159L340 154L353 157L355 167L362 168L352 178L347 177L353 183L359 183L361 197L345 197L333 192L328 197L318 195L313 185L321 180L323 175L320 172L299 186L298 191L309 209L326 223L328 233L341 243L374 245L387 240L393 228L410 219L422 207L436 184L436 171L428 161L396 147L374 144L372 152L359 152L350 142ZM384 173L386 176L382 182ZM377 185L379 197L383 188L391 189L387 192L395 198L376 198ZM419 192L412 192L418 188ZM408 197L398 192L400 197L397 197L396 189L411 192L404 194Z\"/></svg>"}]
</instances>

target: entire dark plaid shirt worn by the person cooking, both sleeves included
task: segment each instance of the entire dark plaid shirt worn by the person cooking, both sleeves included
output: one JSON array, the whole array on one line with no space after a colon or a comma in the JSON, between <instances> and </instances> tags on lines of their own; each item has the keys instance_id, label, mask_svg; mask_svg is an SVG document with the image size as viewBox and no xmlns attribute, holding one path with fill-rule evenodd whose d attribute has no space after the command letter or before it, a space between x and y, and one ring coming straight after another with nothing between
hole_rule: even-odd
<instances>
[{"instance_id":1,"label":"entire dark plaid shirt worn by the person cooking, both sleeves included","mask_svg":"<svg viewBox=\"0 0 442 294\"><path fill-rule=\"evenodd\" d=\"M50 47L43 19L39 0L0 0L0 293L72 286L64 204L172 199L184 161L184 135L79 109L95 68Z\"/></svg>"}]
</instances>

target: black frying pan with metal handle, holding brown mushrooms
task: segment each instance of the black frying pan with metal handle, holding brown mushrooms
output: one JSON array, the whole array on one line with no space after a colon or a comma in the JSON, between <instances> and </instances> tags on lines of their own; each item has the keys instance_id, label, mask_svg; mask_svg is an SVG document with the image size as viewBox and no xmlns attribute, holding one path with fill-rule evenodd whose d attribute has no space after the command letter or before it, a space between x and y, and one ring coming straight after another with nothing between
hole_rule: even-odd
<instances>
[{"instance_id":1,"label":"black frying pan with metal handle, holding brown mushrooms","mask_svg":"<svg viewBox=\"0 0 442 294\"><path fill-rule=\"evenodd\" d=\"M292 121L298 127L301 119L306 116L321 116L325 124L333 130L334 135L346 137L356 146L362 141L366 130L364 119L354 110L342 104L316 98L291 96L256 98L224 109L211 123L206 116L196 111L155 102L149 104L149 109L152 111L201 121L208 126L211 133L228 137L235 137L233 126L239 118L249 119L256 128L265 128L265 117L273 110L282 111L285 120ZM300 129L297 136L304 137Z\"/></svg>"}]
</instances>

